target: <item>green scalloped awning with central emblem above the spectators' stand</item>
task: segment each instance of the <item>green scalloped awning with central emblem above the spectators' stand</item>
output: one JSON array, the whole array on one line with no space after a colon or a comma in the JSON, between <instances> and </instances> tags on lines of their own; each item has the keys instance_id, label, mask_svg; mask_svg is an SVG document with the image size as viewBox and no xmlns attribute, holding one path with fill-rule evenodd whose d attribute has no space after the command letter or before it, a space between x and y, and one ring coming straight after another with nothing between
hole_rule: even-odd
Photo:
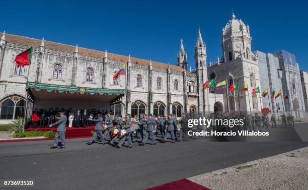
<instances>
[{"instance_id":1,"label":"green scalloped awning with central emblem above the spectators' stand","mask_svg":"<svg viewBox=\"0 0 308 190\"><path fill-rule=\"evenodd\" d=\"M124 89L103 89L103 88L88 88L88 87L73 87L73 86L65 86L65 85L55 85L55 84L45 84L45 83L37 83L37 82L27 82L26 89L33 88L36 91L46 90L48 92L58 91L60 93L69 92L73 93L89 93L89 94L108 94L108 95L120 95L125 94Z\"/></svg>"}]
</instances>

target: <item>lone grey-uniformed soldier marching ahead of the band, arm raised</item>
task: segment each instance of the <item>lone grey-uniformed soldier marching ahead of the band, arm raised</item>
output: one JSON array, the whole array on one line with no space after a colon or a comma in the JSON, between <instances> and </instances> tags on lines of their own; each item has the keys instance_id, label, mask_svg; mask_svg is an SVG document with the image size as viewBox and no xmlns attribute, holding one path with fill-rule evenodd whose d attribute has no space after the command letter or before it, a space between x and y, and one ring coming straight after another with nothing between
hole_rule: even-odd
<instances>
[{"instance_id":1,"label":"lone grey-uniformed soldier marching ahead of the band, arm raised","mask_svg":"<svg viewBox=\"0 0 308 190\"><path fill-rule=\"evenodd\" d=\"M65 131L66 131L65 124L66 124L66 121L67 121L67 117L66 117L64 112L59 112L59 114L60 114L60 119L57 122L49 125L49 127L51 128L53 125L59 124L59 126L57 128L57 132L54 136L53 146L50 147L51 149L56 149L58 147L58 138L59 137L61 138L61 144L62 144L60 148L61 149L65 148Z\"/></svg>"}]
</instances>

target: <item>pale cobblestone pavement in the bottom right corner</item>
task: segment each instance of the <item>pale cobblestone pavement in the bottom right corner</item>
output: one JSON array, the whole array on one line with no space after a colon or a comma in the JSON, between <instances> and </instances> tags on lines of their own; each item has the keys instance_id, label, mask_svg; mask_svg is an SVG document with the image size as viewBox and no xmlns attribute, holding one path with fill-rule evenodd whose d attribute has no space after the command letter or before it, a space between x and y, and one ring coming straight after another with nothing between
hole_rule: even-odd
<instances>
[{"instance_id":1,"label":"pale cobblestone pavement in the bottom right corner","mask_svg":"<svg viewBox=\"0 0 308 190\"><path fill-rule=\"evenodd\" d=\"M308 189L308 147L192 181L214 189Z\"/></svg>"}]
</instances>

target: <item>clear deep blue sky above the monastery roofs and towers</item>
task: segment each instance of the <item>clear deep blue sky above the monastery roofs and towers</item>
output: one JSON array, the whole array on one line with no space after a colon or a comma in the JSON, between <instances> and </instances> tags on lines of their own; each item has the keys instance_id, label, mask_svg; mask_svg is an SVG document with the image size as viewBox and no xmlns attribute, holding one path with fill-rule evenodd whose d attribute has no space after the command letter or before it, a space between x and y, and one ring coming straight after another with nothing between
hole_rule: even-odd
<instances>
[{"instance_id":1,"label":"clear deep blue sky above the monastery roofs and towers","mask_svg":"<svg viewBox=\"0 0 308 190\"><path fill-rule=\"evenodd\" d=\"M194 68L198 27L208 63L221 56L232 8L249 24L252 50L285 49L308 70L307 3L283 1L2 1L0 30L176 64L183 39Z\"/></svg>"}]
</instances>

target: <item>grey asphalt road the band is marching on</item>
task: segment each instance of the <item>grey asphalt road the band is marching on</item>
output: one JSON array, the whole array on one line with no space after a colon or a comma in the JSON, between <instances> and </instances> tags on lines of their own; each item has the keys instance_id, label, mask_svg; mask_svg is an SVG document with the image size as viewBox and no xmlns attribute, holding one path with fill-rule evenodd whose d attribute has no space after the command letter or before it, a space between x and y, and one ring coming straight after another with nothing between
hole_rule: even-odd
<instances>
[{"instance_id":1,"label":"grey asphalt road the band is marching on","mask_svg":"<svg viewBox=\"0 0 308 190\"><path fill-rule=\"evenodd\" d=\"M199 139L113 149L86 146L87 140L69 139L66 149L49 149L52 141L0 143L0 179L35 180L35 186L27 189L135 190L308 146Z\"/></svg>"}]
</instances>

